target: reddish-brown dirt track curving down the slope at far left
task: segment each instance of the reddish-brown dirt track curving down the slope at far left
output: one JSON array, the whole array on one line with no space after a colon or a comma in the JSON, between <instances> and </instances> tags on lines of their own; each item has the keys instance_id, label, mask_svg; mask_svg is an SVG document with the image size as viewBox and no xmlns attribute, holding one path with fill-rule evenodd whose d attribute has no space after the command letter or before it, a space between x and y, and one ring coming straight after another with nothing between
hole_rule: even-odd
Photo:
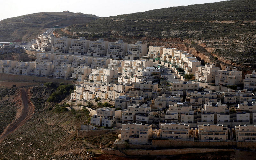
<instances>
[{"instance_id":1,"label":"reddish-brown dirt track curving down the slope at far left","mask_svg":"<svg viewBox=\"0 0 256 160\"><path fill-rule=\"evenodd\" d=\"M22 125L26 123L34 113L34 105L30 102L28 97L28 89L27 88L20 88L21 90L21 98L23 101L23 106L21 109L21 113L17 113L19 117L17 117L11 124L9 124L5 129L4 132L0 135L0 142L4 140L6 136L14 132L16 129L20 128Z\"/></svg>"}]
</instances>

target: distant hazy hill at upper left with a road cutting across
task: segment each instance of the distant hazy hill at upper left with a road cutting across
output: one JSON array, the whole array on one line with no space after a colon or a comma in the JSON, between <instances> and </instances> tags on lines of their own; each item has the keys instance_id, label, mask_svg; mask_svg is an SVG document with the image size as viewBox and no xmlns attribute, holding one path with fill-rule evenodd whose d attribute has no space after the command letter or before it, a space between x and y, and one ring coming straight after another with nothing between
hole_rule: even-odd
<instances>
[{"instance_id":1,"label":"distant hazy hill at upper left with a road cutting across","mask_svg":"<svg viewBox=\"0 0 256 160\"><path fill-rule=\"evenodd\" d=\"M88 23L97 19L95 15L64 12L42 12L7 18L0 21L0 42L21 39L35 39L38 34L53 25L68 26L75 23Z\"/></svg>"}]
</instances>

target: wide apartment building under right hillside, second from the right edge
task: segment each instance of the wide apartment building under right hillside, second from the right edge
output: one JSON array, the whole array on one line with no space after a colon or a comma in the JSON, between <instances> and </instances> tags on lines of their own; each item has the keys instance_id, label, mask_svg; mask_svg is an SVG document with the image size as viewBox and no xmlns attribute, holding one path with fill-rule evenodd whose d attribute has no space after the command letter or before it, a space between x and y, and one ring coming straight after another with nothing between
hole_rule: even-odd
<instances>
[{"instance_id":1,"label":"wide apartment building under right hillside, second from the right edge","mask_svg":"<svg viewBox=\"0 0 256 160\"><path fill-rule=\"evenodd\" d=\"M217 71L215 76L215 85L239 85L242 82L242 71L237 68L225 68Z\"/></svg>"}]
</instances>

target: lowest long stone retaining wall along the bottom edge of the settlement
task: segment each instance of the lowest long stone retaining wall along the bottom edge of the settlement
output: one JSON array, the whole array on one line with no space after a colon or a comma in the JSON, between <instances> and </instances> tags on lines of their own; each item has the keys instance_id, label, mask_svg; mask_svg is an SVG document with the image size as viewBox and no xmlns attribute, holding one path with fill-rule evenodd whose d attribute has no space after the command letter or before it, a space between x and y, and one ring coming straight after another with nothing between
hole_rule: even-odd
<instances>
[{"instance_id":1,"label":"lowest long stone retaining wall along the bottom edge of the settlement","mask_svg":"<svg viewBox=\"0 0 256 160\"><path fill-rule=\"evenodd\" d=\"M234 149L209 149L209 148L185 148L185 149L161 149L161 150L111 150L109 148L101 149L101 153L115 154L118 156L134 155L179 155L189 153L209 153L209 152L228 152Z\"/></svg>"}]
</instances>

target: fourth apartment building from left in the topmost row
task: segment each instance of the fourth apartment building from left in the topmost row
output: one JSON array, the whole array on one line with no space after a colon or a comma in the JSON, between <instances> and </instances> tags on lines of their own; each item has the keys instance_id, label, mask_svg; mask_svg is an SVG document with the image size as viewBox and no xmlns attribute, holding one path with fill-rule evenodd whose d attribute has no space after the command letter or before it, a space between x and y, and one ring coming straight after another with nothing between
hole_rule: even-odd
<instances>
[{"instance_id":1,"label":"fourth apartment building from left in the topmost row","mask_svg":"<svg viewBox=\"0 0 256 160\"><path fill-rule=\"evenodd\" d=\"M86 55L94 57L106 57L108 50L108 41L104 41L103 38L99 38L97 41L90 41L88 52Z\"/></svg>"}]
</instances>

